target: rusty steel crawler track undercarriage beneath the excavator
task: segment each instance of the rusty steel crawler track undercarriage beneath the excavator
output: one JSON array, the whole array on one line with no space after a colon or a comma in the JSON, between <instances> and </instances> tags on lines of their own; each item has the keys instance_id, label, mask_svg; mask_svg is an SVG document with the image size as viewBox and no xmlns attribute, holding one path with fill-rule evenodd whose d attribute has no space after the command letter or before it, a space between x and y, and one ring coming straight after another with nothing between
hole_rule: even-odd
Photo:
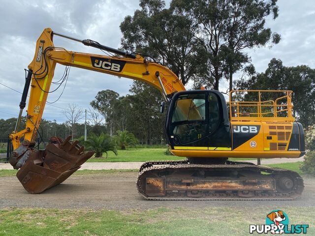
<instances>
[{"instance_id":1,"label":"rusty steel crawler track undercarriage beneath the excavator","mask_svg":"<svg viewBox=\"0 0 315 236\"><path fill-rule=\"evenodd\" d=\"M228 160L191 164L188 159L146 162L136 184L148 200L294 200L304 188L293 171Z\"/></svg>"}]
</instances>

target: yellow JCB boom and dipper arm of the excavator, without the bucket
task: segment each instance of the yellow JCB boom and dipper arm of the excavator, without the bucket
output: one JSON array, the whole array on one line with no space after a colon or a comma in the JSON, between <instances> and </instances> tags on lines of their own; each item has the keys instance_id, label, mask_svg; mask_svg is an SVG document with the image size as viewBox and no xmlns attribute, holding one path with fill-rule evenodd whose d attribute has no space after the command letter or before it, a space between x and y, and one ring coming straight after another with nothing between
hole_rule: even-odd
<instances>
[{"instance_id":1,"label":"yellow JCB boom and dipper arm of the excavator, without the bucket","mask_svg":"<svg viewBox=\"0 0 315 236\"><path fill-rule=\"evenodd\" d=\"M34 141L57 63L143 81L159 89L164 96L185 90L182 82L171 70L158 63L149 62L139 54L126 54L129 57L126 58L71 52L54 46L54 34L57 33L46 28L37 40L35 55L28 66L29 73L26 78L29 80L29 84L26 84L25 90L31 85L26 128L18 132L19 123L17 123L15 132L10 134L13 149L17 149L21 145L20 139L22 137L24 140ZM58 33L57 35L62 34ZM92 40L89 41L94 43ZM25 106L25 101L22 102L22 106L23 103ZM21 108L21 110L23 109Z\"/></svg>"}]
</instances>

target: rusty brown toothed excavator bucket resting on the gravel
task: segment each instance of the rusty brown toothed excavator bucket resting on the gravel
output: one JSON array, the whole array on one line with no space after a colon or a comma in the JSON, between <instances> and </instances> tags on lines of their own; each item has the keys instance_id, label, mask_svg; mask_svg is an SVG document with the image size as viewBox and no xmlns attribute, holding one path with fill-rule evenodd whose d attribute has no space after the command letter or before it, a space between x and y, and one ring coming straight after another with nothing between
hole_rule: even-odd
<instances>
[{"instance_id":1,"label":"rusty brown toothed excavator bucket resting on the gravel","mask_svg":"<svg viewBox=\"0 0 315 236\"><path fill-rule=\"evenodd\" d=\"M45 150L33 151L16 176L32 194L41 193L76 172L94 151L84 153L78 141L70 143L71 136L62 141L52 137Z\"/></svg>"}]
</instances>

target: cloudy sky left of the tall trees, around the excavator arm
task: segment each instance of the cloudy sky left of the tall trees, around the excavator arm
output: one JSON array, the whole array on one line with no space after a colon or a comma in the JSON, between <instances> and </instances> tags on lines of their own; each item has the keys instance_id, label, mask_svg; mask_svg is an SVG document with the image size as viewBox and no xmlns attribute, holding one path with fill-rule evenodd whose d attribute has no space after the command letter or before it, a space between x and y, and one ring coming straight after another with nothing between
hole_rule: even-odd
<instances>
[{"instance_id":1,"label":"cloudy sky left of the tall trees, around the excavator arm","mask_svg":"<svg viewBox=\"0 0 315 236\"><path fill-rule=\"evenodd\" d=\"M23 90L24 68L32 61L36 40L47 27L66 35L81 39L91 38L118 48L122 36L119 25L137 7L137 0L1 1L0 83L18 91ZM56 36L54 44L71 51L103 54L94 48ZM59 80L63 71L64 66L57 65L54 80ZM88 108L97 91L112 89L125 95L131 83L131 80L125 78L71 68L63 95L54 105L65 108L68 103L76 103ZM54 89L54 85L51 89ZM49 94L48 101L55 101L61 92L62 89L59 89ZM9 114L18 114L20 99L21 94L0 85L0 118L10 118L12 115ZM62 117L62 111L47 104L43 117ZM57 120L64 121L63 118Z\"/></svg>"}]
</instances>

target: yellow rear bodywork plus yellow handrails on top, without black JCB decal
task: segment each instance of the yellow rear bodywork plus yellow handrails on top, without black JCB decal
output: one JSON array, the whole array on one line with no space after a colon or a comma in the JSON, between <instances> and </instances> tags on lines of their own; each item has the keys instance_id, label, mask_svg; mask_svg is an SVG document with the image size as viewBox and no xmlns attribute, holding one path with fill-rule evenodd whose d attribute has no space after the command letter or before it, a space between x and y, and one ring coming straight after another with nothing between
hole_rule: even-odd
<instances>
[{"instance_id":1,"label":"yellow rear bodywork plus yellow handrails on top, without black JCB decal","mask_svg":"<svg viewBox=\"0 0 315 236\"><path fill-rule=\"evenodd\" d=\"M257 101L233 101L234 93L255 93ZM286 93L275 100L264 101L261 94ZM174 146L172 153L183 157L205 158L298 158L300 150L288 151L291 140L293 122L291 103L292 91L279 90L233 90L230 93L229 111L231 129L239 126L260 126L259 132L242 145L233 148L233 132L231 132L231 147L185 147ZM281 103L280 103L281 101ZM233 108L235 111L233 112ZM245 112L249 110L251 112ZM285 113L285 114L284 114Z\"/></svg>"}]
</instances>

